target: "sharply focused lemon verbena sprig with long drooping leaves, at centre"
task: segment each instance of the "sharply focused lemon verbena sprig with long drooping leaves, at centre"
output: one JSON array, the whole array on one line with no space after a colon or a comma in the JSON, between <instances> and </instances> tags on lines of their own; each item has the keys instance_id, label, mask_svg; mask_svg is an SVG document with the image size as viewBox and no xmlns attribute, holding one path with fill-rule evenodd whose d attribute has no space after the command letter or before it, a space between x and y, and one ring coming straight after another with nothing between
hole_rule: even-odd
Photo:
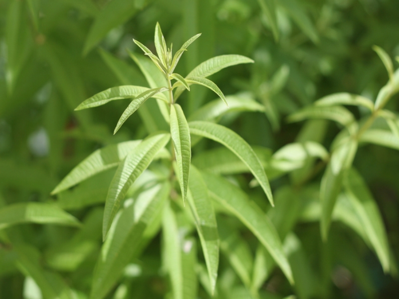
<instances>
[{"instance_id":1,"label":"sharply focused lemon verbena sprig with long drooping leaves, at centre","mask_svg":"<svg viewBox=\"0 0 399 299\"><path fill-rule=\"evenodd\" d=\"M152 98L157 101L163 118L170 125L170 132L154 132L144 140L122 142L94 151L72 169L52 192L56 194L99 172L117 167L105 200L104 244L93 274L90 298L104 298L116 285L129 262L139 257L145 245L160 230L162 268L168 274L173 298L182 299L184 294L195 294L198 289L196 276L200 275L196 269L200 268L196 262L195 232L190 227L196 228L207 269L206 282L203 275L202 282L209 294L213 294L220 246L214 204L221 207L217 211L232 214L247 226L288 281L293 283L279 236L265 213L229 180L221 175L202 172L191 162L191 148L201 138L220 143L243 162L273 205L268 178L254 150L235 132L216 123L228 111L229 103L216 84L206 78L225 67L253 61L241 55L221 55L202 62L186 77L175 73L182 54L199 36L190 38L173 55L172 45L167 48L157 23L154 38L156 54L134 40L156 68L144 67L143 59L131 53L151 88L134 85L112 87L76 108L81 110L114 100L132 99L116 125L115 134L145 101ZM163 75L161 79L159 72ZM213 101L196 111L188 121L177 100L185 90L190 91L193 84L209 88L224 103L220 99ZM233 110L256 110L259 106L250 99L231 99Z\"/></svg>"}]
</instances>

